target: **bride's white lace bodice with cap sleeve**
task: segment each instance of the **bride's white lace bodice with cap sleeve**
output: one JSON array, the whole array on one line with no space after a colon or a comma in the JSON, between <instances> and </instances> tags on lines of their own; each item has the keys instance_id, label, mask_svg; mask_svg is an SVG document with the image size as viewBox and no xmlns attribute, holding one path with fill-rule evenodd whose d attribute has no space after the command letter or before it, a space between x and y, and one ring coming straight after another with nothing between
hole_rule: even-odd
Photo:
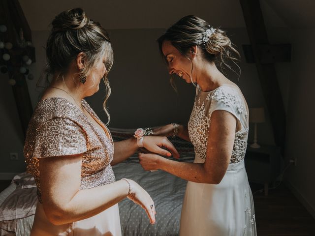
<instances>
[{"instance_id":1,"label":"bride's white lace bodice with cap sleeve","mask_svg":"<svg viewBox=\"0 0 315 236\"><path fill-rule=\"evenodd\" d=\"M238 89L230 86L221 86L209 92L204 92L197 86L195 102L188 122L189 138L195 153L200 158L206 159L211 114L216 110L230 112L241 123L241 129L235 133L230 164L244 160L249 132L248 111Z\"/></svg>"}]
</instances>

